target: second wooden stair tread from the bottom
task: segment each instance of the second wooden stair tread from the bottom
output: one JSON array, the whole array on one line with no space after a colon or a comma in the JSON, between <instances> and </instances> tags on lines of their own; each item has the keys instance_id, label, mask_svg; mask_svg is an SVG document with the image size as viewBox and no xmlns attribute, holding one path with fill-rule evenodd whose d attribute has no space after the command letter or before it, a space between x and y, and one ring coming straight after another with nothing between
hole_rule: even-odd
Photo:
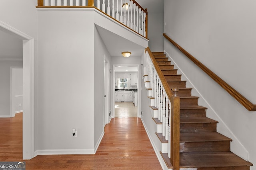
<instances>
[{"instance_id":1,"label":"second wooden stair tread from the bottom","mask_svg":"<svg viewBox=\"0 0 256 170\"><path fill-rule=\"evenodd\" d=\"M180 133L180 142L214 142L232 141L232 139L221 135L218 132L191 132Z\"/></svg>"}]
</instances>

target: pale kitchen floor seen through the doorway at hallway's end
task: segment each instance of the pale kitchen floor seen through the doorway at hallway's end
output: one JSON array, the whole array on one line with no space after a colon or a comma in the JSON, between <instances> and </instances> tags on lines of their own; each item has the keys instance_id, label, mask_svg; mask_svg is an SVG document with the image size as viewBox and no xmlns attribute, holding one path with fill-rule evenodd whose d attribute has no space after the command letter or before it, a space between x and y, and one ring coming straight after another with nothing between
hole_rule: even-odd
<instances>
[{"instance_id":1,"label":"pale kitchen floor seen through the doorway at hallway's end","mask_svg":"<svg viewBox=\"0 0 256 170\"><path fill-rule=\"evenodd\" d=\"M115 117L137 117L133 102L115 102Z\"/></svg>"}]
</instances>

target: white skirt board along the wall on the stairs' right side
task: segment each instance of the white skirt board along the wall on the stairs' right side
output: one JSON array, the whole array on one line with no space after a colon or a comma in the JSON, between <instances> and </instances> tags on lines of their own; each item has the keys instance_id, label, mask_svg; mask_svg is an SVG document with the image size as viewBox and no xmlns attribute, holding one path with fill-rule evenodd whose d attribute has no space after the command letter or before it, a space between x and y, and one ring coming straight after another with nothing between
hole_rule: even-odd
<instances>
[{"instance_id":1,"label":"white skirt board along the wall on the stairs' right side","mask_svg":"<svg viewBox=\"0 0 256 170\"><path fill-rule=\"evenodd\" d=\"M234 133L232 133L232 131L230 131L230 129L228 128L228 126L226 125L226 123L224 123L224 121L218 116L218 114L214 111L214 109L212 109L212 107L210 106L210 104L205 100L205 98L200 94L200 92L197 90L197 88L195 88L194 84L192 84L192 82L188 79L188 77L186 76L186 74L184 74L184 72L182 72L182 70L180 69L180 67L174 62L174 60L172 59L172 57L165 51L166 53L166 57L168 57L171 61L172 64L174 64L174 66L176 68L178 68L180 74L182 74L182 79L186 80L187 83L189 83L190 87L192 87L193 91L194 91L194 96L198 96L201 100L200 100L200 105L207 107L207 117L209 116L209 113L211 113L212 117L214 117L213 119L218 121L218 126L217 126L217 132L222 133L223 135L230 137L232 139L232 142L230 143L230 149L231 151L240 156L241 158L243 158L244 160L249 160L249 152L245 149L245 147L242 145L242 143L240 143L240 141L238 140L238 138L234 135ZM188 84L187 84L188 85ZM209 116L209 118L211 118ZM218 131L218 127L221 127L223 130L222 131Z\"/></svg>"}]
</instances>

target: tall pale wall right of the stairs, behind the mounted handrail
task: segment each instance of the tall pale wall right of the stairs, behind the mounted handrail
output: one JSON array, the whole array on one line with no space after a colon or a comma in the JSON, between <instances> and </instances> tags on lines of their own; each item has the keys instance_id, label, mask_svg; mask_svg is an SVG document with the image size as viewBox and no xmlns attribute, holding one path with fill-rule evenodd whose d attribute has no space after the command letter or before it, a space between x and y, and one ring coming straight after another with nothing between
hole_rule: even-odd
<instances>
[{"instance_id":1,"label":"tall pale wall right of the stairs, behind the mounted handrail","mask_svg":"<svg viewBox=\"0 0 256 170\"><path fill-rule=\"evenodd\" d=\"M165 0L164 13L165 33L254 104L255 8L253 0ZM217 130L233 139L231 150L256 165L256 112L247 111L166 40L164 50L194 86L199 104L208 107L208 117L220 122Z\"/></svg>"}]
</instances>

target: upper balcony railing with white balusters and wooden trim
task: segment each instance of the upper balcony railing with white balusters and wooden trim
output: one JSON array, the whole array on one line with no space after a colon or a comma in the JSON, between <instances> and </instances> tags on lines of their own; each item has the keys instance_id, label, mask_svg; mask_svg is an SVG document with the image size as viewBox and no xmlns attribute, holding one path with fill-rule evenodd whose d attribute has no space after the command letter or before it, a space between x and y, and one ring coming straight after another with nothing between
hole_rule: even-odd
<instances>
[{"instance_id":1,"label":"upper balcony railing with white balusters and wooden trim","mask_svg":"<svg viewBox=\"0 0 256 170\"><path fill-rule=\"evenodd\" d=\"M37 8L96 8L148 38L148 12L135 0L38 0Z\"/></svg>"}]
</instances>

